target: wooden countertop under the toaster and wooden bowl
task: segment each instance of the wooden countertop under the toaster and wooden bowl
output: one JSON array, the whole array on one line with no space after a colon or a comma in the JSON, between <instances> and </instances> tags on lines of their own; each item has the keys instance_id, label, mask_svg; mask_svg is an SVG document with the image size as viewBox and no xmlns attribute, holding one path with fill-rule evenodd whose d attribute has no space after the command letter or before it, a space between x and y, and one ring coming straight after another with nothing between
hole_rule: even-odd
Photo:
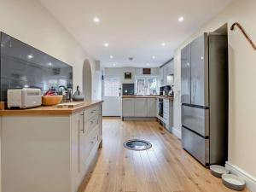
<instances>
[{"instance_id":1,"label":"wooden countertop under the toaster and wooden bowl","mask_svg":"<svg viewBox=\"0 0 256 192\"><path fill-rule=\"evenodd\" d=\"M101 104L103 101L84 101L83 104L74 108L58 108L57 106L26 108L26 109L3 109L0 116L4 115L70 115Z\"/></svg>"}]
</instances>

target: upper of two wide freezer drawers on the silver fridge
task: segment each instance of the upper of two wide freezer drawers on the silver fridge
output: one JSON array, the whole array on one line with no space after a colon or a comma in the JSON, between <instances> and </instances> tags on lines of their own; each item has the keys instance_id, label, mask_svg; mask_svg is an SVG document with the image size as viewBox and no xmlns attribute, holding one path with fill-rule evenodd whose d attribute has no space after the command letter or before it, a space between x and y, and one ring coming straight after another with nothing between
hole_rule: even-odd
<instances>
[{"instance_id":1,"label":"upper of two wide freezer drawers on the silver fridge","mask_svg":"<svg viewBox=\"0 0 256 192\"><path fill-rule=\"evenodd\" d=\"M209 109L182 106L182 124L200 134L209 136Z\"/></svg>"}]
</instances>

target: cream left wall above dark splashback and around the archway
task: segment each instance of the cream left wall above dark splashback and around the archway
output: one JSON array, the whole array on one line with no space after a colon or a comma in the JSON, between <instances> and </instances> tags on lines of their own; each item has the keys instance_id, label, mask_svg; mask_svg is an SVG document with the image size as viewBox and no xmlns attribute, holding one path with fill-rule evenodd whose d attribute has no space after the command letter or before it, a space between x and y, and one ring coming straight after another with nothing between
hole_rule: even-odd
<instances>
[{"instance_id":1,"label":"cream left wall above dark splashback and around the archway","mask_svg":"<svg viewBox=\"0 0 256 192\"><path fill-rule=\"evenodd\" d=\"M93 59L38 1L0 0L0 31L73 66L74 88L83 87L82 67L86 59L90 61L92 79L95 77ZM93 81L92 87L97 86L98 80Z\"/></svg>"}]
</instances>

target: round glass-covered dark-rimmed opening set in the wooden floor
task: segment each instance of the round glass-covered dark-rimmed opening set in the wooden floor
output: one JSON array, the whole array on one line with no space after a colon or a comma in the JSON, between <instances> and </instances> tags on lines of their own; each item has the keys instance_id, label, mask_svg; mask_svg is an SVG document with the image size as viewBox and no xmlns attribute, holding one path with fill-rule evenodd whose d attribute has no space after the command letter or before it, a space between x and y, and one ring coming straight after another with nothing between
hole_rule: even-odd
<instances>
[{"instance_id":1,"label":"round glass-covered dark-rimmed opening set in the wooden floor","mask_svg":"<svg viewBox=\"0 0 256 192\"><path fill-rule=\"evenodd\" d=\"M125 142L124 147L130 150L143 151L143 150L147 150L148 148L151 148L152 144L144 140L132 139Z\"/></svg>"}]
</instances>

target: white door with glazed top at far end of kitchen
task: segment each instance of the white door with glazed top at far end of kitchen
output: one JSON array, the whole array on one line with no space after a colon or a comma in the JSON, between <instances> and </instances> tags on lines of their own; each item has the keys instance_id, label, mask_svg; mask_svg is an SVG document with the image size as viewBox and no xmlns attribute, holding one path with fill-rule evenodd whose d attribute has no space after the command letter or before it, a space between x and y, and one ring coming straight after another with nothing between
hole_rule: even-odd
<instances>
[{"instance_id":1,"label":"white door with glazed top at far end of kitchen","mask_svg":"<svg viewBox=\"0 0 256 192\"><path fill-rule=\"evenodd\" d=\"M121 116L121 81L119 76L105 75L102 81L102 115Z\"/></svg>"}]
</instances>

